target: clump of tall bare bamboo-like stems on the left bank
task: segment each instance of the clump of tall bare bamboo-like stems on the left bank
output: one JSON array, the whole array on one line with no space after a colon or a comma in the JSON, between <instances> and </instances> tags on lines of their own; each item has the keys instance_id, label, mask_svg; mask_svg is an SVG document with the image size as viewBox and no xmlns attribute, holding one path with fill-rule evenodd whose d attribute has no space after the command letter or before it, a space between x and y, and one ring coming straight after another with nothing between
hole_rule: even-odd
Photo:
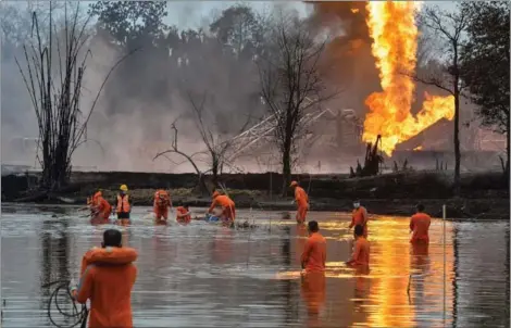
<instances>
[{"instance_id":1,"label":"clump of tall bare bamboo-like stems on the left bank","mask_svg":"<svg viewBox=\"0 0 511 328\"><path fill-rule=\"evenodd\" d=\"M38 15L34 12L33 35L28 46L23 47L26 70L16 59L37 116L40 150L37 159L42 168L40 188L45 190L58 190L67 184L73 153L87 142L87 123L101 90L112 71L129 55L112 66L88 113L82 111L82 83L89 54L84 46L89 39L86 28L90 16L79 23L79 3L71 14L67 4L63 10L63 29L59 33L51 2L45 29L39 26Z\"/></svg>"}]
</instances>

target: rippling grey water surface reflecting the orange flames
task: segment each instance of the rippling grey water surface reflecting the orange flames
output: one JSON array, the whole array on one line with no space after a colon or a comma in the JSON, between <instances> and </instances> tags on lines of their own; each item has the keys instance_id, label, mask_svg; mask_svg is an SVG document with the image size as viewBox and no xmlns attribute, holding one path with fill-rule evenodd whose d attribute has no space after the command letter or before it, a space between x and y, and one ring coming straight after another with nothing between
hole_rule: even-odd
<instances>
[{"instance_id":1,"label":"rippling grey water surface reflecting the orange flames","mask_svg":"<svg viewBox=\"0 0 511 328\"><path fill-rule=\"evenodd\" d=\"M327 272L302 281L307 231L278 213L239 211L260 225L244 231L154 226L141 218L147 209L136 210L121 228L139 252L136 327L509 327L508 222L448 222L444 245L444 223L434 220L428 249L413 249L407 218L373 217L371 270L358 273L344 265L349 215L310 213L327 238ZM50 327L42 286L77 279L105 227L72 207L3 205L2 327Z\"/></svg>"}]
</instances>

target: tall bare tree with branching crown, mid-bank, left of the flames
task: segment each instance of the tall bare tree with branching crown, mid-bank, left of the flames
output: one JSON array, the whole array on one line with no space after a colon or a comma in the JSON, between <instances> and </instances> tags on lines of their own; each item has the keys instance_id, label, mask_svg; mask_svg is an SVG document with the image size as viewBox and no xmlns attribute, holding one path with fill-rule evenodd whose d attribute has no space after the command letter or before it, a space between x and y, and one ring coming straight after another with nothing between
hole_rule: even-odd
<instances>
[{"instance_id":1,"label":"tall bare tree with branching crown, mid-bank, left of the flames","mask_svg":"<svg viewBox=\"0 0 511 328\"><path fill-rule=\"evenodd\" d=\"M269 33L269 52L258 62L261 96L275 117L283 194L291 178L298 141L306 133L303 118L308 110L335 96L325 96L320 72L326 40L317 40L310 30L306 22L281 12Z\"/></svg>"}]
</instances>

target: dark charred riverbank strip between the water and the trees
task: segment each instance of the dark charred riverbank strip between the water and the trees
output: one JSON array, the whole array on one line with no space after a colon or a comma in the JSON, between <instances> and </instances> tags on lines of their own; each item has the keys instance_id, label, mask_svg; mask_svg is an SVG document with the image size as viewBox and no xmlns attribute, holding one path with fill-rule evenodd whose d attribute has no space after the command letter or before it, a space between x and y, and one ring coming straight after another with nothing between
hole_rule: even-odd
<instances>
[{"instance_id":1,"label":"dark charred riverbank strip between the water and the trees","mask_svg":"<svg viewBox=\"0 0 511 328\"><path fill-rule=\"evenodd\" d=\"M298 175L294 177L309 191L311 211L351 211L353 199L360 199L372 214L411 215L414 205L423 203L427 212L441 216L447 205L450 218L509 219L507 181L500 173L463 174L460 197L453 197L452 176L448 172L408 172L366 178L346 175ZM37 175L2 177L2 201L45 204L86 203L98 188L113 203L120 184L129 187L135 205L150 206L154 190L170 190L173 202L208 206L209 194L197 191L194 174L84 173L72 175L72 184L59 193L30 192ZM292 192L282 197L283 178L276 173L222 175L227 193L238 209L295 211ZM211 187L210 187L211 188Z\"/></svg>"}]
</instances>

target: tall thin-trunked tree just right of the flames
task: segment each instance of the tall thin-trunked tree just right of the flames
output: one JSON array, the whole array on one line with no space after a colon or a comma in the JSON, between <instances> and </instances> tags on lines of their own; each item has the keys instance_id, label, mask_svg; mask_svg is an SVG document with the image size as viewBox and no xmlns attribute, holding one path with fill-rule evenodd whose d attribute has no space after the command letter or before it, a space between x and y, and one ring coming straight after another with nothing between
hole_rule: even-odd
<instances>
[{"instance_id":1,"label":"tall thin-trunked tree just right of the flames","mask_svg":"<svg viewBox=\"0 0 511 328\"><path fill-rule=\"evenodd\" d=\"M415 75L415 80L435 86L454 97L454 192L460 191L460 98L464 86L461 79L461 50L463 33L468 25L468 15L462 7L456 12L447 12L438 7L426 7L419 14L422 25L429 28L443 41L443 51L447 55L446 64L439 70Z\"/></svg>"}]
</instances>

